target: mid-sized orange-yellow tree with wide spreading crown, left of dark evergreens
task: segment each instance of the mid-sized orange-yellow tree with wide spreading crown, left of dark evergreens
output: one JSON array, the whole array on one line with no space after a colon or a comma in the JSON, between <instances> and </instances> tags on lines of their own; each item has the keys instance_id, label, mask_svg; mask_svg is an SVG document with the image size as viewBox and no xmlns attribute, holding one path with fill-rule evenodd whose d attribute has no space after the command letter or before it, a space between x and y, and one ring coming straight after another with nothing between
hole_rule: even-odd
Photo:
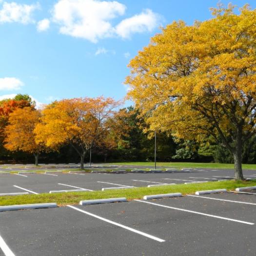
<instances>
[{"instance_id":1,"label":"mid-sized orange-yellow tree with wide spreading crown, left of dark evergreens","mask_svg":"<svg viewBox=\"0 0 256 256\"><path fill-rule=\"evenodd\" d=\"M50 148L71 144L80 157L80 168L84 158L95 145L102 143L105 121L118 106L113 98L72 98L53 102L42 111L42 122L35 129L37 141Z\"/></svg>"}]
</instances>

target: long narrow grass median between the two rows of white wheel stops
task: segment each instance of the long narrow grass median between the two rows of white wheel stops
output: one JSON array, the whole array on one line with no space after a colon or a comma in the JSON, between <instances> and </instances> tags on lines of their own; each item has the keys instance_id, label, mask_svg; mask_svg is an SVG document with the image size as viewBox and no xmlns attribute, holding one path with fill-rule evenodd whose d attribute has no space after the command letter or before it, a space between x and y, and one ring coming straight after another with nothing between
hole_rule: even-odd
<instances>
[{"instance_id":1,"label":"long narrow grass median between the two rows of white wheel stops","mask_svg":"<svg viewBox=\"0 0 256 256\"><path fill-rule=\"evenodd\" d=\"M157 195L180 192L183 195L194 194L200 190L222 189L235 190L238 187L256 186L256 179L250 181L213 181L207 183L193 184L176 184L159 187L139 187L122 190L107 190L93 192L70 192L61 194L39 194L39 195L22 195L22 196L2 196L0 205L32 204L32 203L51 203L56 202L59 206L67 204L79 204L80 200L102 199L126 197L127 199L141 199L146 195Z\"/></svg>"}]
</instances>

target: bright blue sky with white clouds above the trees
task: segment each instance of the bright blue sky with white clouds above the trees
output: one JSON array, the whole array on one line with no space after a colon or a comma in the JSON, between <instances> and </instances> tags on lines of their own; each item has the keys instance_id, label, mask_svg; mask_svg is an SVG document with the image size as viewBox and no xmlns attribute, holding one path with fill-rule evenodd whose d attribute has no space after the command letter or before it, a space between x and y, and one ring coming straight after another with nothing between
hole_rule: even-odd
<instances>
[{"instance_id":1,"label":"bright blue sky with white clouds above the trees","mask_svg":"<svg viewBox=\"0 0 256 256\"><path fill-rule=\"evenodd\" d=\"M0 98L41 103L126 94L127 64L173 20L211 18L218 0L0 0ZM222 0L223 4L230 1ZM233 0L239 7L255 0Z\"/></svg>"}]
</instances>

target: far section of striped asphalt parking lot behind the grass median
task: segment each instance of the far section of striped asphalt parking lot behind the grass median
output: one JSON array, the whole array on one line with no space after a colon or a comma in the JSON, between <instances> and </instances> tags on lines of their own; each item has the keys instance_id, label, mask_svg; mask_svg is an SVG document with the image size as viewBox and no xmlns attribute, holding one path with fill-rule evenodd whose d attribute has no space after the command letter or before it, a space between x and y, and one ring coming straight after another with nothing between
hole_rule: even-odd
<instances>
[{"instance_id":1,"label":"far section of striped asphalt parking lot behind the grass median","mask_svg":"<svg viewBox=\"0 0 256 256\"><path fill-rule=\"evenodd\" d=\"M256 178L256 171L245 170L247 178ZM51 172L0 174L0 194L29 192L49 193L58 190L84 189L101 190L108 187L146 187L148 185L180 184L190 182L218 181L232 179L233 170L183 170L169 173L84 173Z\"/></svg>"}]
</instances>

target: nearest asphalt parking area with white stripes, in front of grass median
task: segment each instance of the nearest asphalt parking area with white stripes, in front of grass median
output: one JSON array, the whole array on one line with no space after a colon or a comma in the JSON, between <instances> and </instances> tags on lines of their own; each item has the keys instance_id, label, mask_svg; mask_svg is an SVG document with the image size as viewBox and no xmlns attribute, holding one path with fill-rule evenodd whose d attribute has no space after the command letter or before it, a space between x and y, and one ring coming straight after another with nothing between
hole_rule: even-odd
<instances>
[{"instance_id":1,"label":"nearest asphalt parking area with white stripes, in front of grass median","mask_svg":"<svg viewBox=\"0 0 256 256\"><path fill-rule=\"evenodd\" d=\"M0 213L14 255L255 255L255 202L234 193Z\"/></svg>"}]
</instances>

